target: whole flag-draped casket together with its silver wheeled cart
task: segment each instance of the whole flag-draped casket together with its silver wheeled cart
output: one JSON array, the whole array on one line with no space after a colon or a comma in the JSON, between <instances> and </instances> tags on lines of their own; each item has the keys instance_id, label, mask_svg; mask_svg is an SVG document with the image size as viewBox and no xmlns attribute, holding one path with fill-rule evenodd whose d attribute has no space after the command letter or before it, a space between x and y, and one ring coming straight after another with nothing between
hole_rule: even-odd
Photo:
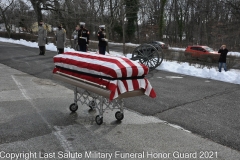
<instances>
[{"instance_id":1,"label":"whole flag-draped casket together with its silver wheeled cart","mask_svg":"<svg viewBox=\"0 0 240 160\"><path fill-rule=\"evenodd\" d=\"M119 109L117 120L124 118L123 99L147 95L156 97L151 84L145 78L148 67L126 57L100 55L86 52L65 52L54 56L54 77L75 86L72 112L78 102L97 109L95 120L103 123L105 110Z\"/></svg>"}]
</instances>

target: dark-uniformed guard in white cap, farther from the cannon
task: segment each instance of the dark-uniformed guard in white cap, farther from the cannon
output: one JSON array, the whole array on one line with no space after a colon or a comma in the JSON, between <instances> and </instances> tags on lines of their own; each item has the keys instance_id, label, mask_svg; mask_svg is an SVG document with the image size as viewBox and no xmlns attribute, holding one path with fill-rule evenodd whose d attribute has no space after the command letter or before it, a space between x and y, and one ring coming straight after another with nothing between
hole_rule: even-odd
<instances>
[{"instance_id":1,"label":"dark-uniformed guard in white cap, farther from the cannon","mask_svg":"<svg viewBox=\"0 0 240 160\"><path fill-rule=\"evenodd\" d=\"M78 45L80 51L87 52L89 44L89 31L85 28L85 23L80 22L80 30L78 31Z\"/></svg>"}]
</instances>

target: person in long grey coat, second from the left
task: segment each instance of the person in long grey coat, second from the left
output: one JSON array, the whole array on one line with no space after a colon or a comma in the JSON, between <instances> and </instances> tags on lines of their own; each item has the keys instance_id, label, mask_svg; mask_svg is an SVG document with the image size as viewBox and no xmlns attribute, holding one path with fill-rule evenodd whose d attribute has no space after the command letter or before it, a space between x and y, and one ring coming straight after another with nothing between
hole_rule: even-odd
<instances>
[{"instance_id":1,"label":"person in long grey coat, second from the left","mask_svg":"<svg viewBox=\"0 0 240 160\"><path fill-rule=\"evenodd\" d=\"M62 24L58 25L55 38L58 54L64 53L64 46L66 42L66 30L62 28Z\"/></svg>"}]
</instances>

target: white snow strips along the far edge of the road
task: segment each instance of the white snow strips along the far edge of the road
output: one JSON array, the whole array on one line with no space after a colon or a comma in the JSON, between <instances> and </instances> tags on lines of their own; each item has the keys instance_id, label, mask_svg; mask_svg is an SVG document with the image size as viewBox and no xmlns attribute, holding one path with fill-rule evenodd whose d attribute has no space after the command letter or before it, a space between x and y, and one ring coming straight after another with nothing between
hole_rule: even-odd
<instances>
[{"instance_id":1,"label":"white snow strips along the far edge of the road","mask_svg":"<svg viewBox=\"0 0 240 160\"><path fill-rule=\"evenodd\" d=\"M25 45L28 47L33 47L33 48L38 48L38 44L36 42L28 42L26 40L13 40L13 39L8 39L8 38L0 38L1 42L8 42L8 43L15 43L15 44L21 44ZM115 43L114 43L115 44ZM121 43L117 43L117 45L122 45ZM132 43L127 43L126 45L132 45L132 46L139 46L139 44L132 44ZM56 51L56 46L53 43L49 43L46 45L46 49L50 51ZM172 50L179 50L179 51L184 51L185 48L175 48L175 47L170 47ZM65 48L65 51L74 51L72 48ZM229 52L230 55L235 55L235 56L240 56L239 52ZM119 52L113 52L111 51L111 55L114 56L123 56L122 53ZM131 57L131 54L127 54L127 57ZM178 63L178 62L169 62L169 61L163 61L160 66L156 68L157 70L163 70L163 71L168 71L168 72L175 72L179 74L184 74L184 75L190 75L190 76L195 76L195 77L202 77L206 79L214 79L214 80L219 80L219 81L224 81L228 83L235 83L235 84L240 84L240 70L234 70L231 69L230 71L225 72L223 69L222 72L218 72L217 68L200 68L197 66L191 66L189 63Z\"/></svg>"}]
</instances>

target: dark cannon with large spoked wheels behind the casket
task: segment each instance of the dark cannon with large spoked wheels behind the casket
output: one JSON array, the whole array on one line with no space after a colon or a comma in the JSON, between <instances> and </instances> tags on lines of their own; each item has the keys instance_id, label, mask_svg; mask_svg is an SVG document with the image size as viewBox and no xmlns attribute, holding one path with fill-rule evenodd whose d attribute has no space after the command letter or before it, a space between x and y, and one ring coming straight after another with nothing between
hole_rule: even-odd
<instances>
[{"instance_id":1,"label":"dark cannon with large spoked wheels behind the casket","mask_svg":"<svg viewBox=\"0 0 240 160\"><path fill-rule=\"evenodd\" d=\"M152 71L162 63L162 50L157 50L151 44L142 44L133 50L131 60L139 61Z\"/></svg>"}]
</instances>

